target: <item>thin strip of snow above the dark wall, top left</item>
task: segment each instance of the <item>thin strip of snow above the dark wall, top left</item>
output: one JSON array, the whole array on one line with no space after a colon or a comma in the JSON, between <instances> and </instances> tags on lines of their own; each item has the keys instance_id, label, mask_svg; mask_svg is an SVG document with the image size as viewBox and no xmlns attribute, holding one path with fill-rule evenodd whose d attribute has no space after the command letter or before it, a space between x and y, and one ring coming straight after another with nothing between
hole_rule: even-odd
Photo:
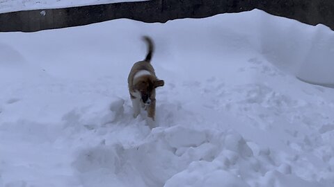
<instances>
[{"instance_id":1,"label":"thin strip of snow above the dark wall, top left","mask_svg":"<svg viewBox=\"0 0 334 187\"><path fill-rule=\"evenodd\" d=\"M0 13L43 8L65 8L107 3L149 0L0 0Z\"/></svg>"}]
</instances>

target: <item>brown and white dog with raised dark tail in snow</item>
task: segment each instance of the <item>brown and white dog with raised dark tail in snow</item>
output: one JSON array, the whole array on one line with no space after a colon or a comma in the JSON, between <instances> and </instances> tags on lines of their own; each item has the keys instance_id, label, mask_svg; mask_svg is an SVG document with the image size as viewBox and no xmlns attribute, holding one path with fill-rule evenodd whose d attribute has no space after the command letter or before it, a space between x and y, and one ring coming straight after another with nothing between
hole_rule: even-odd
<instances>
[{"instance_id":1,"label":"brown and white dog with raised dark tail in snow","mask_svg":"<svg viewBox=\"0 0 334 187\"><path fill-rule=\"evenodd\" d=\"M134 63L127 78L129 93L134 109L134 118L141 112L141 108L148 112L148 117L154 121L155 89L164 86L164 80L159 80L150 63L154 52L154 44L150 37L144 36L148 44L148 54L145 60Z\"/></svg>"}]
</instances>

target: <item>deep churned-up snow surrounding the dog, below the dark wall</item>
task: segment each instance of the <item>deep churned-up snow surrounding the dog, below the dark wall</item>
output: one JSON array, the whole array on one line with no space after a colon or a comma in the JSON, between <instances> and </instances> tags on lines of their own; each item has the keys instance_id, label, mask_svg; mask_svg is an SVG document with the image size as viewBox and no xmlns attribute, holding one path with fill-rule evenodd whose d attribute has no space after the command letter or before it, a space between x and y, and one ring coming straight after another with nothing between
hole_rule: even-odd
<instances>
[{"instance_id":1,"label":"deep churned-up snow surrounding the dog, below the dark wall","mask_svg":"<svg viewBox=\"0 0 334 187\"><path fill-rule=\"evenodd\" d=\"M157 125L127 75L152 64ZM334 33L260 10L0 33L0 186L334 186Z\"/></svg>"}]
</instances>

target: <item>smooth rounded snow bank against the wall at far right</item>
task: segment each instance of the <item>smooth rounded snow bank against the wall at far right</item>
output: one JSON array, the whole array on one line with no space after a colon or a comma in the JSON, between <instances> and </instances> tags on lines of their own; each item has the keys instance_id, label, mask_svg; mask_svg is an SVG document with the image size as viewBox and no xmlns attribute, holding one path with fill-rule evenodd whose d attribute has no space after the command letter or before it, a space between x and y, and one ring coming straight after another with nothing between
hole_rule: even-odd
<instances>
[{"instance_id":1,"label":"smooth rounded snow bank against the wall at far right","mask_svg":"<svg viewBox=\"0 0 334 187\"><path fill-rule=\"evenodd\" d=\"M334 34L324 26L261 16L260 50L269 62L302 80L334 85ZM265 18L264 18L265 17Z\"/></svg>"}]
</instances>

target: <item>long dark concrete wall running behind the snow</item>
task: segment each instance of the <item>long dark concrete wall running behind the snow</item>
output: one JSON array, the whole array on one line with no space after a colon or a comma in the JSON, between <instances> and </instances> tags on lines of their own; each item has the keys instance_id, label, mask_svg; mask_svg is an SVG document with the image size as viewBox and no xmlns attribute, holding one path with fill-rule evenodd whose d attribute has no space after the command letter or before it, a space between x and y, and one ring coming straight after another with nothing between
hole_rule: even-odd
<instances>
[{"instance_id":1,"label":"long dark concrete wall running behind the snow","mask_svg":"<svg viewBox=\"0 0 334 187\"><path fill-rule=\"evenodd\" d=\"M166 22L254 8L306 24L325 24L334 30L333 0L152 0L3 13L0 14L0 32L33 32L119 18Z\"/></svg>"}]
</instances>

